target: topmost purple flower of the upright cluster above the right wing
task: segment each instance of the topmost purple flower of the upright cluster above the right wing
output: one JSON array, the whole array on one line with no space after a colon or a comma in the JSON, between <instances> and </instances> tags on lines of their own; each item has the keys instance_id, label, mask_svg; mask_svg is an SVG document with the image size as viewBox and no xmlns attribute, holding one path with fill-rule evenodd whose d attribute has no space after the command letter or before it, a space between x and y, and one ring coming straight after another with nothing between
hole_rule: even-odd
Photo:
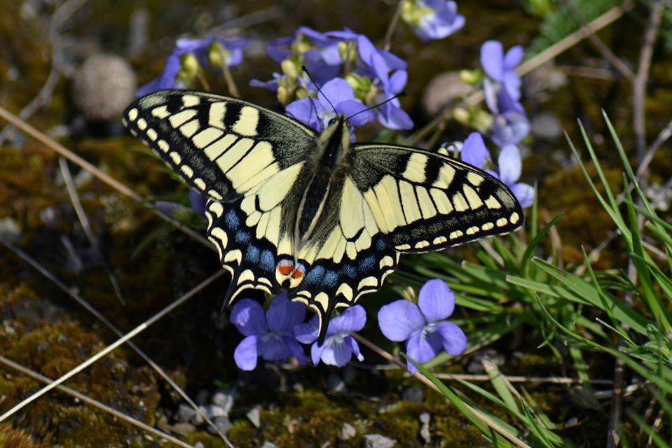
<instances>
[{"instance_id":1,"label":"topmost purple flower of the upright cluster above the right wing","mask_svg":"<svg viewBox=\"0 0 672 448\"><path fill-rule=\"evenodd\" d=\"M504 85L512 99L521 97L521 78L516 73L516 66L523 60L523 48L520 45L509 48L504 54L504 47L498 41L486 41L481 45L481 65L493 80Z\"/></svg>"}]
</instances>

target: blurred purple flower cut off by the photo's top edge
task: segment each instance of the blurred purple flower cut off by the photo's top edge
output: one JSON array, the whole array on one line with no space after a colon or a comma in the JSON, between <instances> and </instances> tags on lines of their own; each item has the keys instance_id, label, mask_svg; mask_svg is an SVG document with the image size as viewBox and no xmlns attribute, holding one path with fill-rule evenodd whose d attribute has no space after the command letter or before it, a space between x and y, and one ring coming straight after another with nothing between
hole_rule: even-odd
<instances>
[{"instance_id":1,"label":"blurred purple flower cut off by the photo's top edge","mask_svg":"<svg viewBox=\"0 0 672 448\"><path fill-rule=\"evenodd\" d=\"M402 6L402 19L423 41L450 36L465 25L457 4L448 0L407 0Z\"/></svg>"}]
</instances>

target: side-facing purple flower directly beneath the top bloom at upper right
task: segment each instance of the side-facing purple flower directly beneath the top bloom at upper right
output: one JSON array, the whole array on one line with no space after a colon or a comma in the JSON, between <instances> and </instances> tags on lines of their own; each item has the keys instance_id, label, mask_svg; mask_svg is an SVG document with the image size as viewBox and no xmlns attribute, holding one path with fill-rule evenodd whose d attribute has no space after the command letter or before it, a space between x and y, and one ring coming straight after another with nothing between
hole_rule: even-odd
<instances>
[{"instance_id":1,"label":"side-facing purple flower directly beneath the top bloom at upper right","mask_svg":"<svg viewBox=\"0 0 672 448\"><path fill-rule=\"evenodd\" d=\"M508 90L484 80L484 94L488 109L493 113L490 138L497 146L518 144L530 133L530 121L523 106L513 99Z\"/></svg>"}]
</instances>

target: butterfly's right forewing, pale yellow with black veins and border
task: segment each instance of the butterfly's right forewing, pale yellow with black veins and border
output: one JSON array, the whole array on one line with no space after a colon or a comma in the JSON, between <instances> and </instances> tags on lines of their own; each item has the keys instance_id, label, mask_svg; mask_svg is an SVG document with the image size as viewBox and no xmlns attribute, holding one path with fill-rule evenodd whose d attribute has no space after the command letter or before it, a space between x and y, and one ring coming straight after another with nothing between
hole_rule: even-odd
<instances>
[{"instance_id":1,"label":"butterfly's right forewing, pale yellow with black veins and border","mask_svg":"<svg viewBox=\"0 0 672 448\"><path fill-rule=\"evenodd\" d=\"M350 175L396 251L437 251L516 230L509 188L460 160L405 146L355 145Z\"/></svg>"}]
</instances>

